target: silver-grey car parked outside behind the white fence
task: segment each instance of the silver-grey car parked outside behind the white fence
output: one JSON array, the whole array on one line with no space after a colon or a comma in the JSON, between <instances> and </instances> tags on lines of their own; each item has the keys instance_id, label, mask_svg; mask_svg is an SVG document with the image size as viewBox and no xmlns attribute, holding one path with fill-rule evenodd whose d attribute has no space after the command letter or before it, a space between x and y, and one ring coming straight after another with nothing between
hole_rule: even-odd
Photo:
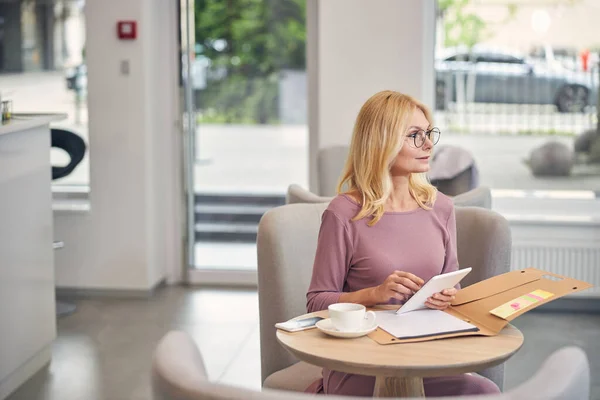
<instances>
[{"instance_id":1,"label":"silver-grey car parked outside behind the white fence","mask_svg":"<svg viewBox=\"0 0 600 400\"><path fill-rule=\"evenodd\" d=\"M560 112L583 112L598 98L597 74L506 51L448 49L435 69L436 108L441 110L457 100L457 93L476 103L554 104Z\"/></svg>"}]
</instances>

